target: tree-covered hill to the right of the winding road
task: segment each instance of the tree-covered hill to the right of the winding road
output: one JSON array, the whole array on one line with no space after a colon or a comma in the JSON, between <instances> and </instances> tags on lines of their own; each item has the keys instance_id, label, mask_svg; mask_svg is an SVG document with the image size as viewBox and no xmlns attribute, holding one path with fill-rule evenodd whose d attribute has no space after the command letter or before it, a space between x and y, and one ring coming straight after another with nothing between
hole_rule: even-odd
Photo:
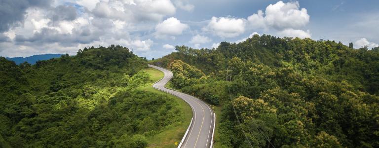
<instances>
[{"instance_id":1,"label":"tree-covered hill to the right of the winding road","mask_svg":"<svg viewBox=\"0 0 379 148\"><path fill-rule=\"evenodd\" d=\"M216 148L379 147L379 47L255 35L152 64L222 107Z\"/></svg>"}]
</instances>

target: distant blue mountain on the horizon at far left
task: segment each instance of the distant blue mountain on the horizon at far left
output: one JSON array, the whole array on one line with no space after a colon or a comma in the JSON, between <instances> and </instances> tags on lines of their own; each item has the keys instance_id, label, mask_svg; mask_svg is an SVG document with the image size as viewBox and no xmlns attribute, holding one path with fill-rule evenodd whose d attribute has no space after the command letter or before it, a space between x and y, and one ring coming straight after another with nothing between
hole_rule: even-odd
<instances>
[{"instance_id":1,"label":"distant blue mountain on the horizon at far left","mask_svg":"<svg viewBox=\"0 0 379 148\"><path fill-rule=\"evenodd\" d=\"M49 60L52 58L58 58L61 57L63 54L39 54L39 55L33 55L30 57L14 57L14 58L6 58L7 60L14 61L17 65L28 62L30 64L36 64L37 61L40 60Z\"/></svg>"}]
</instances>

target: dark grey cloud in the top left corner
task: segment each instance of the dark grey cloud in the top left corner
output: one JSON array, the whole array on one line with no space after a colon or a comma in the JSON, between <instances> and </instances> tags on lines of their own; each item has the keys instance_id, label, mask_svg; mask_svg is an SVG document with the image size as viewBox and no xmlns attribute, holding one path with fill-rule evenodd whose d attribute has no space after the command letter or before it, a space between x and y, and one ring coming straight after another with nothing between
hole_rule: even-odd
<instances>
[{"instance_id":1,"label":"dark grey cloud in the top left corner","mask_svg":"<svg viewBox=\"0 0 379 148\"><path fill-rule=\"evenodd\" d=\"M1 0L0 33L23 23L29 7L48 7L50 4L51 0Z\"/></svg>"}]
</instances>

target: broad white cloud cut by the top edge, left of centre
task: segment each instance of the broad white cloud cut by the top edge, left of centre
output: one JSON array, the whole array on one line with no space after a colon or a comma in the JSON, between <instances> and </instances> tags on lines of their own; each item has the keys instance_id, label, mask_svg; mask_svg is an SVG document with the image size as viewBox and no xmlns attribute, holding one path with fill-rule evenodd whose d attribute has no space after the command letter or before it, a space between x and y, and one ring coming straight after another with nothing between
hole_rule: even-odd
<instances>
[{"instance_id":1,"label":"broad white cloud cut by the top edge, left of centre","mask_svg":"<svg viewBox=\"0 0 379 148\"><path fill-rule=\"evenodd\" d=\"M76 3L96 17L128 22L158 22L176 12L170 0L80 0Z\"/></svg>"}]
</instances>

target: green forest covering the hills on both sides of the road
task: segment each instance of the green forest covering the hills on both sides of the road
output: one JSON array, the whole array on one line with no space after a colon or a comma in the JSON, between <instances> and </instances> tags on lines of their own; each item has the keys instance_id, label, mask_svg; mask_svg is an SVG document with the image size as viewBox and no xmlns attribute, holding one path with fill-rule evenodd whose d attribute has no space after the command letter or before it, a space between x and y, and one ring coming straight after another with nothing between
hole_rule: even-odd
<instances>
[{"instance_id":1,"label":"green forest covering the hills on both sides of the road","mask_svg":"<svg viewBox=\"0 0 379 148\"><path fill-rule=\"evenodd\" d=\"M378 148L379 47L352 47L255 35L152 61L119 45L34 65L0 57L0 147L148 147L185 113L140 89L151 63L220 109L215 148Z\"/></svg>"}]
</instances>

